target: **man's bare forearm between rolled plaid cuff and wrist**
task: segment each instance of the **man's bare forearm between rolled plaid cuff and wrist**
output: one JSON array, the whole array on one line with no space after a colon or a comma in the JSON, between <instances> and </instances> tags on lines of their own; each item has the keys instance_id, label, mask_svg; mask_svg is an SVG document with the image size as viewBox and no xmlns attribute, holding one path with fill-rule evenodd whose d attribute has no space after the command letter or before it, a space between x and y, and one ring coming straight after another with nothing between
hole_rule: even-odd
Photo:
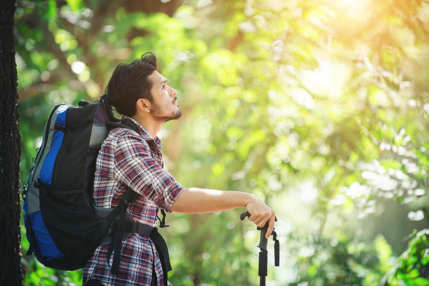
<instances>
[{"instance_id":1,"label":"man's bare forearm between rolled plaid cuff and wrist","mask_svg":"<svg viewBox=\"0 0 429 286\"><path fill-rule=\"evenodd\" d=\"M185 188L174 201L170 211L184 214L203 214L244 208L254 199L251 193Z\"/></svg>"}]
</instances>

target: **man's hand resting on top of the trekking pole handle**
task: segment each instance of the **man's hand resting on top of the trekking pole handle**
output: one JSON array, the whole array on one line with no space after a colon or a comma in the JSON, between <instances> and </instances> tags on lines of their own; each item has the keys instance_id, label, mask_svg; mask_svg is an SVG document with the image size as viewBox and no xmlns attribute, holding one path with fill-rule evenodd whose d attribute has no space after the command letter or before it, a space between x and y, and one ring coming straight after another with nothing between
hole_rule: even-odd
<instances>
[{"instance_id":1,"label":"man's hand resting on top of the trekking pole handle","mask_svg":"<svg viewBox=\"0 0 429 286\"><path fill-rule=\"evenodd\" d=\"M268 221L268 229L265 235L265 238L268 239L274 229L275 212L257 196L252 196L252 198L246 204L246 209L250 214L249 220L260 228L263 228Z\"/></svg>"}]
</instances>

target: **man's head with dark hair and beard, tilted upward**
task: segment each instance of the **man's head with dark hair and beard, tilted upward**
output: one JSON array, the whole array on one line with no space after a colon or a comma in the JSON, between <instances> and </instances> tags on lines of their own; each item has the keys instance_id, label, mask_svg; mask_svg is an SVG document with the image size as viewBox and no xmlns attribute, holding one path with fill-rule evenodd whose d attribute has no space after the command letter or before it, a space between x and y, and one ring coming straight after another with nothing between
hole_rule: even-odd
<instances>
[{"instance_id":1,"label":"man's head with dark hair and beard, tilted upward","mask_svg":"<svg viewBox=\"0 0 429 286\"><path fill-rule=\"evenodd\" d=\"M131 63L116 66L105 90L119 114L151 117L158 123L181 116L176 90L157 71L157 58L151 52Z\"/></svg>"}]
</instances>

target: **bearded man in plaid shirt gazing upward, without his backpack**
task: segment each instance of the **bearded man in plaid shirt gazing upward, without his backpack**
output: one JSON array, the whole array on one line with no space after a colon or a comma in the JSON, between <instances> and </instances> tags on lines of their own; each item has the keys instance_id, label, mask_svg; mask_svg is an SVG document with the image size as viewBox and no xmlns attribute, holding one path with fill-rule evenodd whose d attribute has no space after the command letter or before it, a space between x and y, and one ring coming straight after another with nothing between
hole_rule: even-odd
<instances>
[{"instance_id":1,"label":"bearded man in plaid shirt gazing upward, without his backpack","mask_svg":"<svg viewBox=\"0 0 429 286\"><path fill-rule=\"evenodd\" d=\"M176 90L157 72L156 57L145 53L130 64L119 64L106 87L106 97L122 118L134 121L139 133L125 128L109 132L99 151L94 176L94 203L114 208L132 188L142 196L127 209L134 221L157 225L158 208L186 214L246 208L249 220L263 227L267 238L274 228L275 213L251 193L184 188L163 169L162 124L181 116ZM154 158L151 157L151 151ZM163 285L160 258L154 243L133 233L123 241L118 275L107 262L108 245L97 247L83 270L84 285ZM111 256L113 257L113 255ZM168 282L168 285L171 284Z\"/></svg>"}]
</instances>

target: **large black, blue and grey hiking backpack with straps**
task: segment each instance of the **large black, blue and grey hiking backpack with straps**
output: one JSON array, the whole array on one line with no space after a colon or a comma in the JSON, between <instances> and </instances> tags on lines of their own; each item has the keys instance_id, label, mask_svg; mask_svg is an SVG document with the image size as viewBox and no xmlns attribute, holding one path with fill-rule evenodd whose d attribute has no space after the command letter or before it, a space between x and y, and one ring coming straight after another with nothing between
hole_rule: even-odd
<instances>
[{"instance_id":1,"label":"large black, blue and grey hiking backpack with straps","mask_svg":"<svg viewBox=\"0 0 429 286\"><path fill-rule=\"evenodd\" d=\"M115 208L94 205L97 154L109 129L116 127L139 133L133 120L114 117L105 94L91 104L80 100L79 106L61 103L52 109L22 192L27 255L34 253L46 267L73 271L83 268L98 246L109 244L107 261L110 266L115 250L111 271L117 275L122 241L139 233L154 242L167 285L171 265L163 237L157 227L134 222L127 213L140 194L128 188ZM164 210L161 213L160 227L167 227Z\"/></svg>"}]
</instances>

